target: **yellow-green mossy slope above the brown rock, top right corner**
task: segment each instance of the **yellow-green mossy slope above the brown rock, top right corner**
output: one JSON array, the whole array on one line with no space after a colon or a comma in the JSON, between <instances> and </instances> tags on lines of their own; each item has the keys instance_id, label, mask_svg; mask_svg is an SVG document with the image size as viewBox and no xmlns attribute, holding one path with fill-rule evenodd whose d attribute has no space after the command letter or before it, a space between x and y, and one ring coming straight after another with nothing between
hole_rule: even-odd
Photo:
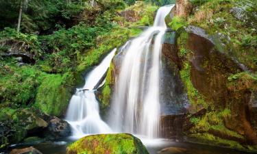
<instances>
[{"instance_id":1,"label":"yellow-green mossy slope above the brown rock, top right corner","mask_svg":"<svg viewBox=\"0 0 257 154\"><path fill-rule=\"evenodd\" d=\"M256 71L257 31L253 29L251 22L256 23L257 18L250 17L254 14L253 12L256 12L256 2L254 0L249 2L214 0L197 5L199 9L188 17L188 23L206 29L208 34L221 34L221 37L218 36L221 42L217 45L223 44L222 51L236 57L239 62ZM230 12L234 7L241 8L242 15L247 14L248 17L243 17L245 21L238 20Z\"/></svg>"}]
</instances>

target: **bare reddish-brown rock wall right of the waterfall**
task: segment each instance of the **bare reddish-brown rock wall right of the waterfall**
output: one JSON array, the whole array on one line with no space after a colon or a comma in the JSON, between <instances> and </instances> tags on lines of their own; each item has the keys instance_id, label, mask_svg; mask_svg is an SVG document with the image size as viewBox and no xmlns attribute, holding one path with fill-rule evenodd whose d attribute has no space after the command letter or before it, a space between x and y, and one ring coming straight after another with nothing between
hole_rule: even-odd
<instances>
[{"instance_id":1,"label":"bare reddish-brown rock wall right of the waterfall","mask_svg":"<svg viewBox=\"0 0 257 154\"><path fill-rule=\"evenodd\" d=\"M228 77L241 73L243 68L229 55L221 53L209 37L199 31L189 33L187 49L193 52L191 81L206 102L217 109L231 110L232 116L225 118L225 127L245 136L248 144L257 144L257 136L249 123L249 101L251 92L243 88L228 88Z\"/></svg>"}]
</instances>

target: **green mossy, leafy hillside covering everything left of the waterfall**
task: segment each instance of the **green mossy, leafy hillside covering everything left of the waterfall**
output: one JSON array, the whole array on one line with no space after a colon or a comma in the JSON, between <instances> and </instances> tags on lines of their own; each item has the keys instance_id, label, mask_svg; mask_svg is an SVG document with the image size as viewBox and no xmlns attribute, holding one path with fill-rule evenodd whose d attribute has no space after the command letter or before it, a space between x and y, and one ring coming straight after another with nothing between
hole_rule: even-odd
<instances>
[{"instance_id":1,"label":"green mossy, leafy hillside covering everything left of the waterfall","mask_svg":"<svg viewBox=\"0 0 257 154\"><path fill-rule=\"evenodd\" d=\"M121 0L91 4L0 1L0 149L21 142L30 129L45 127L43 114L64 116L75 87L84 83L82 75L112 49L138 36L140 26L151 25L157 9L146 3L127 6ZM125 7L136 8L136 21L120 15ZM103 110L110 105L113 68L101 91Z\"/></svg>"}]
</instances>

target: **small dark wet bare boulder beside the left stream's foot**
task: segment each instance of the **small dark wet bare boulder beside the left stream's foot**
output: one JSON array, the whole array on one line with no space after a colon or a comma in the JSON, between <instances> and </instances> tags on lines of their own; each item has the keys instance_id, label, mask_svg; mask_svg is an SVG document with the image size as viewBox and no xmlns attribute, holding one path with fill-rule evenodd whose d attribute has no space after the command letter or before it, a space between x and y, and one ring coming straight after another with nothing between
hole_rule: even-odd
<instances>
[{"instance_id":1,"label":"small dark wet bare boulder beside the left stream's foot","mask_svg":"<svg viewBox=\"0 0 257 154\"><path fill-rule=\"evenodd\" d=\"M51 140L64 138L71 135L71 127L69 123L56 116L49 120L49 125L45 131L45 136Z\"/></svg>"}]
</instances>

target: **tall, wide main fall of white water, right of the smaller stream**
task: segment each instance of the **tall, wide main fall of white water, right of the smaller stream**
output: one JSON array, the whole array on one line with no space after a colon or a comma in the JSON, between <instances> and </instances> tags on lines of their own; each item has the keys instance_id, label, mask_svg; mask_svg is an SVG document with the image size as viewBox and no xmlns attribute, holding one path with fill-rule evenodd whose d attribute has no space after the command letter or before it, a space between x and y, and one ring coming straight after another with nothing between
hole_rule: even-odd
<instances>
[{"instance_id":1,"label":"tall, wide main fall of white water, right of the smaller stream","mask_svg":"<svg viewBox=\"0 0 257 154\"><path fill-rule=\"evenodd\" d=\"M147 138L159 135L160 52L167 30L164 18L173 6L161 7L154 26L121 50L123 62L116 77L110 110L110 125L114 131L137 133Z\"/></svg>"}]
</instances>

